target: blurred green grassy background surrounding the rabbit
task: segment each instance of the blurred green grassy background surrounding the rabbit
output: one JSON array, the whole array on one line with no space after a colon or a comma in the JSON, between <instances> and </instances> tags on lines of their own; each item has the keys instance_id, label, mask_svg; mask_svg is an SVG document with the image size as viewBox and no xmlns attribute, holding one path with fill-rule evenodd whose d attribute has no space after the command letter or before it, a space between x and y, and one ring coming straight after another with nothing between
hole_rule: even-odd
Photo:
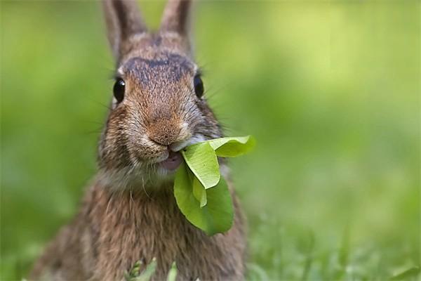
<instances>
[{"instance_id":1,"label":"blurred green grassy background surrounding the rabbit","mask_svg":"<svg viewBox=\"0 0 421 281\"><path fill-rule=\"evenodd\" d=\"M27 273L95 174L112 96L97 1L1 1L1 280ZM142 1L159 25L160 1ZM202 1L196 58L248 216L250 280L420 265L420 2Z\"/></svg>"}]
</instances>

